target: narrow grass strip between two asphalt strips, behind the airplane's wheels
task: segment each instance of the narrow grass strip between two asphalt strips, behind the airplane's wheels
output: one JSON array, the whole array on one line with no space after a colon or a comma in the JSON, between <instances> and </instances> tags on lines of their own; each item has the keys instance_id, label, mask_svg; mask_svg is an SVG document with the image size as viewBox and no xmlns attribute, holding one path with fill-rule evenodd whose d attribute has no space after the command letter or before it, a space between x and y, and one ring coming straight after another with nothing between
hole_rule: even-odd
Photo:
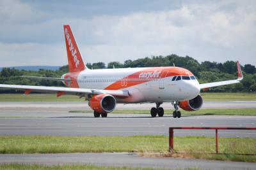
<instances>
[{"instance_id":1,"label":"narrow grass strip between two asphalt strips, behind the airplane's wheels","mask_svg":"<svg viewBox=\"0 0 256 170\"><path fill-rule=\"evenodd\" d=\"M164 110L165 115L170 115L173 110ZM70 113L93 113L92 110L73 110ZM114 110L111 113L126 114L149 114L150 110ZM184 111L182 115L246 115L255 116L256 108L237 108L237 109L201 109L197 111Z\"/></svg>"}]
</instances>

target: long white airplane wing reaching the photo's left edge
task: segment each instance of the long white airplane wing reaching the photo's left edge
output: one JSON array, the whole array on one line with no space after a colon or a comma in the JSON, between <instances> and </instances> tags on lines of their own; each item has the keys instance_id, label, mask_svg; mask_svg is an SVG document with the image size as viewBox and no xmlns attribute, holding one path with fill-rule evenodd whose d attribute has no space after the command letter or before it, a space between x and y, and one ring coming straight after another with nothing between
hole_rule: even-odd
<instances>
[{"instance_id":1,"label":"long white airplane wing reaching the photo's left edge","mask_svg":"<svg viewBox=\"0 0 256 170\"><path fill-rule=\"evenodd\" d=\"M56 93L57 97L63 94L79 95L81 94L111 94L116 97L128 97L129 92L127 90L97 90L97 89L79 89L69 87L46 87L46 86L31 86L31 85L4 85L0 84L0 89L15 89L24 90L25 94L30 92L44 92L44 93Z\"/></svg>"}]
</instances>

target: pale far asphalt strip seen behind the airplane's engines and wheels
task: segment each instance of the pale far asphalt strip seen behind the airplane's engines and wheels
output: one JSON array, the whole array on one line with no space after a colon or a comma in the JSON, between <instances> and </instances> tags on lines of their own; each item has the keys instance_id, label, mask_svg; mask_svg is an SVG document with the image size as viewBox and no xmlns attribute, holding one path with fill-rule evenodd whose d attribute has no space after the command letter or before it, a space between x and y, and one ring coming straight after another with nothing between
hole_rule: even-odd
<instances>
[{"instance_id":1,"label":"pale far asphalt strip seen behind the airplane's engines and wheels","mask_svg":"<svg viewBox=\"0 0 256 170\"><path fill-rule=\"evenodd\" d=\"M143 104L116 104L116 109L119 110L148 110L156 107L154 103ZM164 109L173 109L171 103L163 103ZM256 101L204 101L202 108L256 108ZM8 111L70 111L70 110L90 110L87 102L1 102L0 110Z\"/></svg>"}]
</instances>

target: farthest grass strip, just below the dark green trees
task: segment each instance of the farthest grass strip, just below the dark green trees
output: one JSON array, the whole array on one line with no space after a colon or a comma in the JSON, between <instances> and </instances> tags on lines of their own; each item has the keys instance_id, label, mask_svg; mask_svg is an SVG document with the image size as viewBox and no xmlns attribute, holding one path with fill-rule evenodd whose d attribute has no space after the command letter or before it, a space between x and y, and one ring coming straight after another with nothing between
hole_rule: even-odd
<instances>
[{"instance_id":1,"label":"farthest grass strip, just below the dark green trees","mask_svg":"<svg viewBox=\"0 0 256 170\"><path fill-rule=\"evenodd\" d=\"M205 101L256 101L255 93L203 93ZM83 102L77 96L56 94L0 94L0 102Z\"/></svg>"}]
</instances>

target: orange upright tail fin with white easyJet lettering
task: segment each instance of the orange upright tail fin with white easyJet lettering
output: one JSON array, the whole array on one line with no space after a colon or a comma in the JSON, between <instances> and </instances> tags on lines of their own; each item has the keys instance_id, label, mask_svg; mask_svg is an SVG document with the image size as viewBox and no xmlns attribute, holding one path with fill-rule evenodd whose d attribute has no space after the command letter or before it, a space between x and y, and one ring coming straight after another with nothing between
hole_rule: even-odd
<instances>
[{"instance_id":1,"label":"orange upright tail fin with white easyJet lettering","mask_svg":"<svg viewBox=\"0 0 256 170\"><path fill-rule=\"evenodd\" d=\"M69 72L83 71L84 69L88 69L84 62L81 54L76 45L76 40L72 34L69 25L64 25L64 34L65 41L67 47L67 55L68 55L68 69Z\"/></svg>"}]
</instances>

